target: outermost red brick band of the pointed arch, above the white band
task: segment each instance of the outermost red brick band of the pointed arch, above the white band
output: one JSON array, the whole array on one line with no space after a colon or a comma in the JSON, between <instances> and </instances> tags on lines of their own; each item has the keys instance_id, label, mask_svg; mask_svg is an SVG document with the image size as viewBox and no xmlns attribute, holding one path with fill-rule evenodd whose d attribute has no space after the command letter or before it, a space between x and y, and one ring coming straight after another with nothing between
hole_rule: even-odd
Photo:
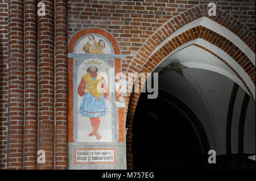
<instances>
[{"instance_id":1,"label":"outermost red brick band of the pointed arch, above the white band","mask_svg":"<svg viewBox=\"0 0 256 181\"><path fill-rule=\"evenodd\" d=\"M224 26L240 37L240 39L255 53L255 35L245 26L245 24L220 9L216 10L217 16L208 16L207 9L207 5L195 6L164 23L153 35L148 37L143 46L138 50L138 53L135 54L133 61L131 61L129 65L126 65L127 69L123 70L126 70L127 72L140 71L142 65L149 56L148 53L153 52L163 40L167 39L168 36L179 30L179 28L201 17L207 17L221 26ZM134 66L135 64L133 64L133 62L140 66Z\"/></svg>"}]
</instances>

